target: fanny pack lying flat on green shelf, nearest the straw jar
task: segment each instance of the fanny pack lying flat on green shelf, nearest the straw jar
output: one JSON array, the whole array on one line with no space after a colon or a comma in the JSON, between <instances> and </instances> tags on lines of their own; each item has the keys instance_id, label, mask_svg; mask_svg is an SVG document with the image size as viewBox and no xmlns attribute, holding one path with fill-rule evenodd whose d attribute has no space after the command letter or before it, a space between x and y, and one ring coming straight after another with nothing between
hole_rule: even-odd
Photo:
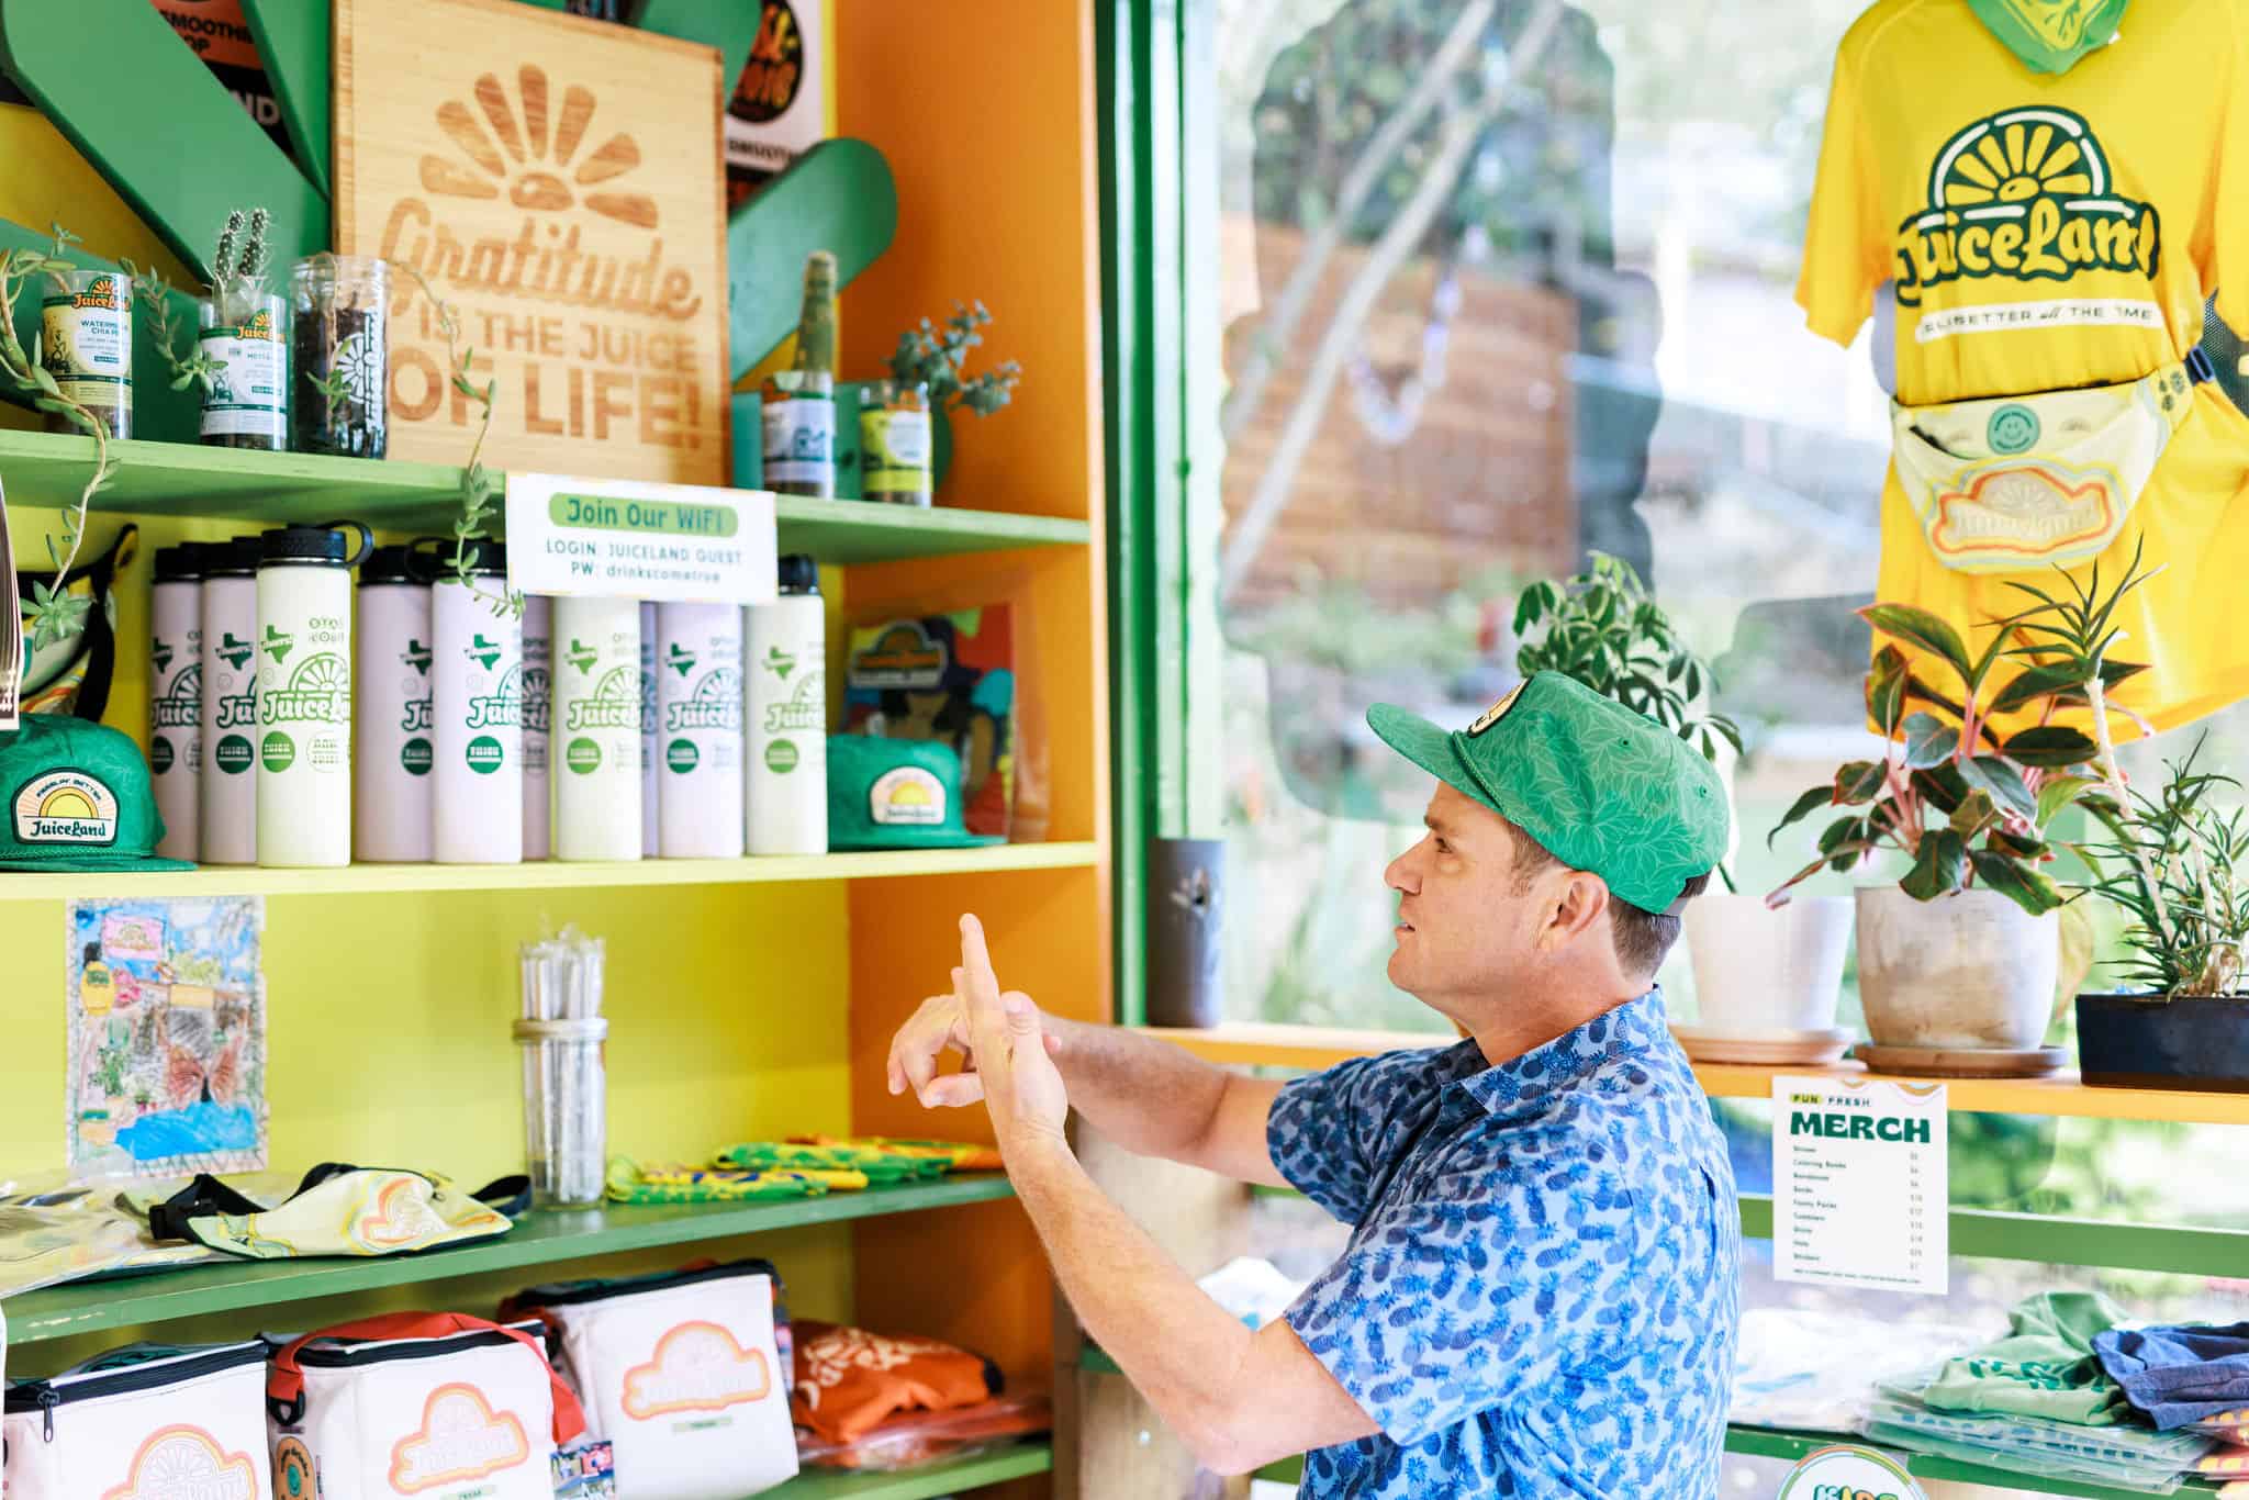
<instances>
[{"instance_id":1,"label":"fanny pack lying flat on green shelf, nearest the straw jar","mask_svg":"<svg viewBox=\"0 0 2249 1500\"><path fill-rule=\"evenodd\" d=\"M529 1203L531 1181L522 1176L470 1196L441 1176L322 1163L277 1208L261 1208L216 1176L198 1176L148 1208L148 1232L247 1259L414 1255L506 1235L511 1214Z\"/></svg>"}]
</instances>

